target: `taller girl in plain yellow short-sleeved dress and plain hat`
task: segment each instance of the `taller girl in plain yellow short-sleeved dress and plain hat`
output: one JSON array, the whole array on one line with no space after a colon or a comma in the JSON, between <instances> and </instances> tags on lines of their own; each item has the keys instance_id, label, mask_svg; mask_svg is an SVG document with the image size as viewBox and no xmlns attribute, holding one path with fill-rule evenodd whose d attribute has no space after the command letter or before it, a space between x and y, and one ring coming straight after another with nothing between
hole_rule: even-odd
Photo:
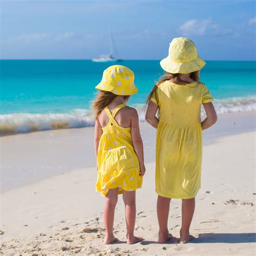
<instances>
[{"instance_id":1,"label":"taller girl in plain yellow short-sleeved dress and plain hat","mask_svg":"<svg viewBox=\"0 0 256 256\"><path fill-rule=\"evenodd\" d=\"M187 242L193 238L189 228L194 198L201 184L202 130L217 121L212 95L199 82L199 71L205 64L190 39L174 38L169 56L160 62L166 73L147 99L146 120L157 128L159 242L172 237L167 227L171 198L183 199L180 240ZM202 104L207 116L203 122L200 120Z\"/></svg>"}]
</instances>

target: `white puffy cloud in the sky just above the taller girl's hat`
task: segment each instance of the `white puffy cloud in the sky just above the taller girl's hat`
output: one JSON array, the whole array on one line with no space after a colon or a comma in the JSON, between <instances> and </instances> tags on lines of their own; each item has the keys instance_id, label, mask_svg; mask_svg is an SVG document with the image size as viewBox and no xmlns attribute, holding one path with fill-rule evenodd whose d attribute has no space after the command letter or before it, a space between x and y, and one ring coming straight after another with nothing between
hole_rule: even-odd
<instances>
[{"instance_id":1,"label":"white puffy cloud in the sky just above the taller girl's hat","mask_svg":"<svg viewBox=\"0 0 256 256\"><path fill-rule=\"evenodd\" d=\"M203 21L199 21L198 19L190 19L183 23L179 30L183 35L197 35L197 36L204 36L204 35L215 35L215 36L224 36L224 35L232 35L234 36L235 33L232 29L225 29L221 30L220 25L214 23L212 18L204 19Z\"/></svg>"}]
</instances>

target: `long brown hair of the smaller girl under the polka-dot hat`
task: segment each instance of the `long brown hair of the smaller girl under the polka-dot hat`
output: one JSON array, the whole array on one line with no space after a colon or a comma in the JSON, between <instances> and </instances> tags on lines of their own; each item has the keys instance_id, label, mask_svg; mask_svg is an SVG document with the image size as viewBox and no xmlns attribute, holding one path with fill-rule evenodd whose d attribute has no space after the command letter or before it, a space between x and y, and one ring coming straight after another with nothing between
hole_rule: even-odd
<instances>
[{"instance_id":1,"label":"long brown hair of the smaller girl under the polka-dot hat","mask_svg":"<svg viewBox=\"0 0 256 256\"><path fill-rule=\"evenodd\" d=\"M92 101L91 104L91 107L95 113L95 119L98 118L99 114L104 110L104 107L108 106L117 96L118 95L108 91L100 90L98 92L97 97ZM122 97L125 99L125 101L127 101L130 95L124 95Z\"/></svg>"}]
</instances>

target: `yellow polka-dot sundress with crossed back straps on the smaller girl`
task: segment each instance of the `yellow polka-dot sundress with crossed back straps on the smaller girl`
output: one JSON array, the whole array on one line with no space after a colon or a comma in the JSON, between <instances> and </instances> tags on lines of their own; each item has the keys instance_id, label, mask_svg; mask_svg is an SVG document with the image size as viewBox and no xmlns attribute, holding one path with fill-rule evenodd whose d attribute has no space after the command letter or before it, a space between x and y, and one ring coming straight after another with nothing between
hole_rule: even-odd
<instances>
[{"instance_id":1,"label":"yellow polka-dot sundress with crossed back straps on the smaller girl","mask_svg":"<svg viewBox=\"0 0 256 256\"><path fill-rule=\"evenodd\" d=\"M139 160L134 152L131 127L118 125L114 116L125 107L120 104L111 114L109 107L105 112L109 123L103 127L98 147L98 178L96 191L102 196L112 188L118 187L118 194L125 191L134 191L142 187L142 176L139 176Z\"/></svg>"}]
</instances>

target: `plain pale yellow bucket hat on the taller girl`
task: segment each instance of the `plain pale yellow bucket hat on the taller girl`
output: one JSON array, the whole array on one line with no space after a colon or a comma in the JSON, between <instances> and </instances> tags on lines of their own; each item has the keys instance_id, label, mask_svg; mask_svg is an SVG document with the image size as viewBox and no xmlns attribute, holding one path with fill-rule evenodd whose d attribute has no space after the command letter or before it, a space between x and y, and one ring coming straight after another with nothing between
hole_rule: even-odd
<instances>
[{"instance_id":1,"label":"plain pale yellow bucket hat on the taller girl","mask_svg":"<svg viewBox=\"0 0 256 256\"><path fill-rule=\"evenodd\" d=\"M161 68L166 72L182 74L197 71L205 64L197 55L196 45L186 37L173 38L169 55L160 61Z\"/></svg>"}]
</instances>

